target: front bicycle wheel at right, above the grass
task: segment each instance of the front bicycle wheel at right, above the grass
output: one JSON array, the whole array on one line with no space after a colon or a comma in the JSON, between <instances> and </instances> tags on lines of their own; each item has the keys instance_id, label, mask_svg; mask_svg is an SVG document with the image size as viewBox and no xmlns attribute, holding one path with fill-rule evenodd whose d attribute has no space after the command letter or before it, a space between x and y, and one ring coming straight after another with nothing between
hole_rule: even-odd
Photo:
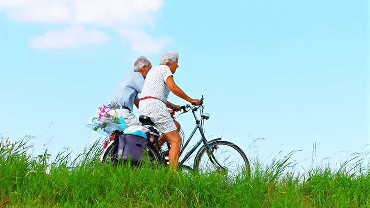
<instances>
[{"instance_id":1,"label":"front bicycle wheel at right, above the grass","mask_svg":"<svg viewBox=\"0 0 370 208\"><path fill-rule=\"evenodd\" d=\"M224 172L231 178L241 178L244 174L250 174L249 161L242 149L231 142L215 141L209 144L220 167L214 162L208 147L204 146L198 151L194 159L194 170L201 173ZM206 153L206 154L205 154Z\"/></svg>"}]
</instances>

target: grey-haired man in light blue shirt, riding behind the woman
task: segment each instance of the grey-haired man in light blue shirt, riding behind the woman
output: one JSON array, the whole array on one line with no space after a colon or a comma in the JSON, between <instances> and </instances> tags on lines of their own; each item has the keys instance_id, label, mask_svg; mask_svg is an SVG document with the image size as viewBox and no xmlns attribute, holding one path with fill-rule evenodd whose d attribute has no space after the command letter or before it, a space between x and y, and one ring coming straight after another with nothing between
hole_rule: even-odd
<instances>
[{"instance_id":1,"label":"grey-haired man in light blue shirt, riding behind the woman","mask_svg":"<svg viewBox=\"0 0 370 208\"><path fill-rule=\"evenodd\" d=\"M139 57L134 64L134 71L125 74L115 88L111 101L118 102L121 109L116 109L113 115L123 117L127 126L141 125L132 113L134 104L139 108L138 94L142 92L145 78L151 68L151 63L144 56Z\"/></svg>"}]
</instances>

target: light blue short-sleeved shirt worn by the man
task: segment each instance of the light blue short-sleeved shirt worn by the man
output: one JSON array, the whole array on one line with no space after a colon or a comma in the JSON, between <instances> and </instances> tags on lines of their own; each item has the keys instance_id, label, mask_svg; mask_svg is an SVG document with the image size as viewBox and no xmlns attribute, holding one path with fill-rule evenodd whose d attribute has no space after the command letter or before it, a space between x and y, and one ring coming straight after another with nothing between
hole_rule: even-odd
<instances>
[{"instance_id":1,"label":"light blue short-sleeved shirt worn by the man","mask_svg":"<svg viewBox=\"0 0 370 208\"><path fill-rule=\"evenodd\" d=\"M126 106L132 111L134 101L139 99L138 94L143 90L144 81L140 72L128 72L114 89L111 101L118 102L121 106Z\"/></svg>"}]
</instances>

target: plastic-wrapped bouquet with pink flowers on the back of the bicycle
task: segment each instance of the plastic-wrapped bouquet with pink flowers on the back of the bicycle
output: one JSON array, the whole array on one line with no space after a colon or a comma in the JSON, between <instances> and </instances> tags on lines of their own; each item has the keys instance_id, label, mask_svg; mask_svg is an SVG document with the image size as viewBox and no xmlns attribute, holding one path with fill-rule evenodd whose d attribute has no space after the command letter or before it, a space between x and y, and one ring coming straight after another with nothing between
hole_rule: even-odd
<instances>
[{"instance_id":1,"label":"plastic-wrapped bouquet with pink flowers on the back of the bicycle","mask_svg":"<svg viewBox=\"0 0 370 208\"><path fill-rule=\"evenodd\" d=\"M84 126L105 136L110 136L111 132L116 129L126 129L127 126L123 117L118 118L113 113L115 109L120 109L120 107L118 102L111 102L108 106L103 105L103 107L97 108L95 115Z\"/></svg>"}]
</instances>

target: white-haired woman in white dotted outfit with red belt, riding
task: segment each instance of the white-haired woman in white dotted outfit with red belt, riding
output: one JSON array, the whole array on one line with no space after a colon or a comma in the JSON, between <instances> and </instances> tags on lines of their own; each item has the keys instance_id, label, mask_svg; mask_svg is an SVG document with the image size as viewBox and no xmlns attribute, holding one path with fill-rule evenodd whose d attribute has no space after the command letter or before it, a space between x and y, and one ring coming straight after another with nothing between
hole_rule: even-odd
<instances>
[{"instance_id":1,"label":"white-haired woman in white dotted outfit with red belt, riding","mask_svg":"<svg viewBox=\"0 0 370 208\"><path fill-rule=\"evenodd\" d=\"M148 116L162 132L161 145L168 140L171 145L169 152L170 167L177 170L181 148L181 137L174 120L167 108L181 111L180 106L167 101L168 94L172 91L184 100L200 104L198 99L192 99L185 94L174 82L173 75L176 72L179 54L176 51L168 51L161 54L159 65L150 69L145 79L139 102L139 114ZM163 142L163 143L162 143Z\"/></svg>"}]
</instances>

